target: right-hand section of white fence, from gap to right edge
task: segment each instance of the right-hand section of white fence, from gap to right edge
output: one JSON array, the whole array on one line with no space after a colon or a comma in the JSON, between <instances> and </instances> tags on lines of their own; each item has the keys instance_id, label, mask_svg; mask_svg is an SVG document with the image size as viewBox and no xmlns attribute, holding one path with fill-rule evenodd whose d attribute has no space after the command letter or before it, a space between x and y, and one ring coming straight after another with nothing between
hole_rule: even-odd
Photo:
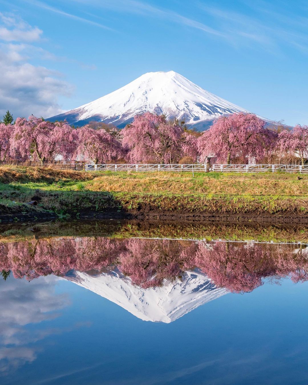
<instances>
[{"instance_id":1,"label":"right-hand section of white fence, from gap to right edge","mask_svg":"<svg viewBox=\"0 0 308 385\"><path fill-rule=\"evenodd\" d=\"M308 172L308 166L299 164L213 164L212 171L221 172Z\"/></svg>"}]
</instances>

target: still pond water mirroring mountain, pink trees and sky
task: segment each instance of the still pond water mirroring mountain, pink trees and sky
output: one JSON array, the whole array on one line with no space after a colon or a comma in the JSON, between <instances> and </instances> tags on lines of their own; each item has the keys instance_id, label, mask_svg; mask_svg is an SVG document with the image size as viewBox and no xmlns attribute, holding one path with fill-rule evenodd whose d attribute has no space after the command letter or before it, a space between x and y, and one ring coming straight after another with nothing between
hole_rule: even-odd
<instances>
[{"instance_id":1,"label":"still pond water mirroring mountain, pink trees and sky","mask_svg":"<svg viewBox=\"0 0 308 385\"><path fill-rule=\"evenodd\" d=\"M0 383L307 384L308 248L274 230L2 228Z\"/></svg>"}]
</instances>

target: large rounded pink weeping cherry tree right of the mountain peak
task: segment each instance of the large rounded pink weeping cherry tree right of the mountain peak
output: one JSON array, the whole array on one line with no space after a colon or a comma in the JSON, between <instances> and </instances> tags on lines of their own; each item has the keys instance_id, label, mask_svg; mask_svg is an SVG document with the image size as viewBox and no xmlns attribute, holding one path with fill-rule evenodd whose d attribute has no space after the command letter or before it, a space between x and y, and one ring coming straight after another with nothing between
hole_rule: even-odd
<instances>
[{"instance_id":1,"label":"large rounded pink weeping cherry tree right of the mountain peak","mask_svg":"<svg viewBox=\"0 0 308 385\"><path fill-rule=\"evenodd\" d=\"M198 138L198 150L203 159L214 156L227 164L232 157L260 157L264 150L258 137L264 134L264 126L254 114L222 116Z\"/></svg>"}]
</instances>

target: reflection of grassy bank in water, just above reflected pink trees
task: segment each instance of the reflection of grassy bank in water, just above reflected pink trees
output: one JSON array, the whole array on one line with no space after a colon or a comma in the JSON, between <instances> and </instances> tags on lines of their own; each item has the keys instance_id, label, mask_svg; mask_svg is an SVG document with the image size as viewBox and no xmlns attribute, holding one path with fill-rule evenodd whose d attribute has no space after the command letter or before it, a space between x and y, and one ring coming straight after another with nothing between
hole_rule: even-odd
<instances>
[{"instance_id":1,"label":"reflection of grassy bank in water, just above reflected pink trees","mask_svg":"<svg viewBox=\"0 0 308 385\"><path fill-rule=\"evenodd\" d=\"M135 220L72 221L45 223L11 223L0 225L0 242L35 238L109 237L109 238L171 238L171 239L229 239L234 241L301 242L308 243L305 226L243 226ZM185 242L185 241L183 241Z\"/></svg>"}]
</instances>

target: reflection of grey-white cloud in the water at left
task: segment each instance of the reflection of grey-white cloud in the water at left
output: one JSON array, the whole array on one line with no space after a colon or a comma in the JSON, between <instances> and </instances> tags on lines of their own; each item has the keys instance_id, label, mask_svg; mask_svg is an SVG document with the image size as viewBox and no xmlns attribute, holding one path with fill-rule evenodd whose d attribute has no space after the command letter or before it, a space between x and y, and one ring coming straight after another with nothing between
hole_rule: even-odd
<instances>
[{"instance_id":1,"label":"reflection of grey-white cloud in the water at left","mask_svg":"<svg viewBox=\"0 0 308 385\"><path fill-rule=\"evenodd\" d=\"M69 304L66 295L55 295L55 276L40 277L30 283L26 280L0 281L0 370L23 365L35 360L36 347L25 347L65 329L43 329L28 332L25 325L52 320L58 310ZM79 325L77 325L79 326ZM10 346L6 346L10 345ZM14 346L11 346L14 345Z\"/></svg>"}]
</instances>

